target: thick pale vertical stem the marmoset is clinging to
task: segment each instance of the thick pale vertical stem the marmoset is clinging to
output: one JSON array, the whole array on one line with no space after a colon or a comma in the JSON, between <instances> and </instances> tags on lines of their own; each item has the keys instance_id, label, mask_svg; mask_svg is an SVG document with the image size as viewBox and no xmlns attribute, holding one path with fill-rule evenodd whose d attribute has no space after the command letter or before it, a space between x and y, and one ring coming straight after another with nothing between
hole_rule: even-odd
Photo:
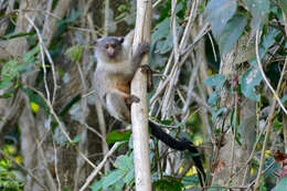
<instances>
[{"instance_id":1,"label":"thick pale vertical stem the marmoset is clinging to","mask_svg":"<svg viewBox=\"0 0 287 191\"><path fill-rule=\"evenodd\" d=\"M144 40L150 40L151 0L137 0L137 19L132 50ZM148 56L141 64L148 63ZM151 176L149 161L148 107L147 107L147 76L137 71L131 82L131 94L140 98L131 105L131 124L134 141L134 163L136 172L136 190L150 191Z\"/></svg>"}]
</instances>

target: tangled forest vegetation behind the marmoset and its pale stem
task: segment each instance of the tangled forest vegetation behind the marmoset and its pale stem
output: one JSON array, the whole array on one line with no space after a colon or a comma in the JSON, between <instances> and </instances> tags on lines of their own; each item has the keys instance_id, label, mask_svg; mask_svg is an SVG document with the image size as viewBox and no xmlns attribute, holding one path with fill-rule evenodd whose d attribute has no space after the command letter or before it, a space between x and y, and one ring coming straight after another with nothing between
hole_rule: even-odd
<instances>
[{"instance_id":1,"label":"tangled forest vegetation behind the marmoset and its pale stem","mask_svg":"<svg viewBox=\"0 0 287 191\"><path fill-rule=\"evenodd\" d=\"M202 152L212 190L287 187L287 1L152 1L150 116ZM134 190L131 131L95 97L93 45L136 1L0 1L0 190ZM150 141L155 190L200 188Z\"/></svg>"}]
</instances>

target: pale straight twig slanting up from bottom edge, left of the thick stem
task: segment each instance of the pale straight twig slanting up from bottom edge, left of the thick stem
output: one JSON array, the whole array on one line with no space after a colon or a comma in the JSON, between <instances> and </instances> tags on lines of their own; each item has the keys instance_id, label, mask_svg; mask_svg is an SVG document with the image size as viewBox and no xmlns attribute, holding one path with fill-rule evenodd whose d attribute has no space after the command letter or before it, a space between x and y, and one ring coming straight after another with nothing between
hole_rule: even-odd
<instances>
[{"instance_id":1,"label":"pale straight twig slanting up from bottom edge, left of the thick stem","mask_svg":"<svg viewBox=\"0 0 287 191\"><path fill-rule=\"evenodd\" d=\"M99 170L105 166L107 159L114 153L114 151L118 148L118 146L123 144L123 142L116 142L111 149L105 155L104 159L102 160L102 162L97 166L96 169L94 169L94 171L88 176L88 178L86 179L85 184L79 189L79 191L84 191L89 183L92 182L92 180L97 176L97 173L99 172Z\"/></svg>"}]
</instances>

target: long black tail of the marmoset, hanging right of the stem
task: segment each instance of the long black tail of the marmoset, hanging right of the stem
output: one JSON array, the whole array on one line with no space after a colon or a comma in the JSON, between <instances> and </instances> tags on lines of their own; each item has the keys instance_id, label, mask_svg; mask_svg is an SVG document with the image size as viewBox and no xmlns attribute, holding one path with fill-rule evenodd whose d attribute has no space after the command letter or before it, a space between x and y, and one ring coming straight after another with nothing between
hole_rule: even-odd
<instances>
[{"instance_id":1,"label":"long black tail of the marmoset, hanging right of the stem","mask_svg":"<svg viewBox=\"0 0 287 191\"><path fill-rule=\"evenodd\" d=\"M205 172L202 166L202 161L200 158L200 153L199 150L194 147L194 145L187 140L187 139L181 139L181 140L177 140L173 137L171 137L170 135L168 135L164 130L162 130L157 124L153 124L151 120L149 120L149 127L150 127L150 131L151 134L159 140L161 140L162 142L164 142L167 146L169 146L172 149L176 150L189 150L191 153L193 153L194 156L192 157L194 165L196 167L198 170L198 176L200 179L200 184L201 187L204 185L204 181L205 181Z\"/></svg>"}]
</instances>

